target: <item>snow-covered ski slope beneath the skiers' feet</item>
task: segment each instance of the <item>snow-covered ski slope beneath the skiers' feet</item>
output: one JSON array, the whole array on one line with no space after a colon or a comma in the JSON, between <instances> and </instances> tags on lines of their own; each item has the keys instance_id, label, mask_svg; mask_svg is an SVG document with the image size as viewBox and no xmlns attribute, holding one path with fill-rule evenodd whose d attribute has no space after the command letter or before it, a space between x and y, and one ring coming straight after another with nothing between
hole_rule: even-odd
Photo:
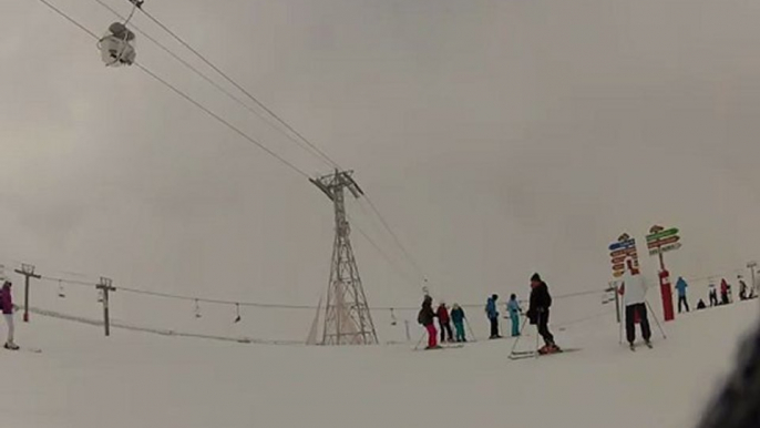
<instances>
[{"instance_id":1,"label":"snow-covered ski slope beneath the skiers' feet","mask_svg":"<svg viewBox=\"0 0 760 428\"><path fill-rule=\"evenodd\" d=\"M0 353L3 427L685 428L732 363L758 303L655 328L655 349L618 345L596 319L555 332L582 351L506 358L512 340L462 349L225 344L35 317ZM528 347L534 338L520 345Z\"/></svg>"}]
</instances>

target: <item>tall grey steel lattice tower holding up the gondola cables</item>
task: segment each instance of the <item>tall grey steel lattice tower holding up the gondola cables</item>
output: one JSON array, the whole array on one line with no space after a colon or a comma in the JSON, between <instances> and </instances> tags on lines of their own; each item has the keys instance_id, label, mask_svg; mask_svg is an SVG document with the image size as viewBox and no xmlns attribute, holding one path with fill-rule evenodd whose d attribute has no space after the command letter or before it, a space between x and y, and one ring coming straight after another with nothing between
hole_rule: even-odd
<instances>
[{"instance_id":1,"label":"tall grey steel lattice tower holding up the gondola cables","mask_svg":"<svg viewBox=\"0 0 760 428\"><path fill-rule=\"evenodd\" d=\"M377 345L378 335L367 305L367 296L359 277L353 256L351 227L346 216L345 190L359 198L364 193L353 181L352 171L338 171L319 179L310 179L335 207L336 237L332 246L330 283L327 287L327 305L322 345Z\"/></svg>"}]
</instances>

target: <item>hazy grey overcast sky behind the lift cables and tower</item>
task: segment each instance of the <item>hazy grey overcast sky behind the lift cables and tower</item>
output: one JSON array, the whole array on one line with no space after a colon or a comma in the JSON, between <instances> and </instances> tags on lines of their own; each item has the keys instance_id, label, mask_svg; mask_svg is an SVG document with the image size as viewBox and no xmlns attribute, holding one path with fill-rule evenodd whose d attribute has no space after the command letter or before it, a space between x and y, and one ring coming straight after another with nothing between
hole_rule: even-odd
<instances>
[{"instance_id":1,"label":"hazy grey overcast sky behind the lift cables and tower","mask_svg":"<svg viewBox=\"0 0 760 428\"><path fill-rule=\"evenodd\" d=\"M113 17L51 0L96 33ZM105 0L129 11L124 0ZM32 0L0 14L0 254L47 273L316 304L332 244L308 181ZM439 295L603 287L607 245L678 226L674 273L759 257L760 4L147 0L356 177ZM134 24L187 58L137 14ZM144 38L137 59L309 174L329 172ZM357 203L370 304L420 284ZM644 247L639 245L644 253ZM394 255L393 255L394 254ZM654 264L645 267L654 272ZM405 271L400 275L396 271Z\"/></svg>"}]
</instances>

